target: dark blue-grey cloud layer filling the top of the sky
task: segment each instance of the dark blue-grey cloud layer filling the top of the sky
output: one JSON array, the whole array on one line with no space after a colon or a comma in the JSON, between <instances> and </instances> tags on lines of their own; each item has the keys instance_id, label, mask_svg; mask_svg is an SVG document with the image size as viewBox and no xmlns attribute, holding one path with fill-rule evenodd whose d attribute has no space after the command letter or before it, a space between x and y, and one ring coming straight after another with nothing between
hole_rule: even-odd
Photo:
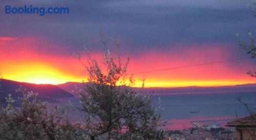
<instances>
[{"instance_id":1,"label":"dark blue-grey cloud layer filling the top of the sky","mask_svg":"<svg viewBox=\"0 0 256 140\"><path fill-rule=\"evenodd\" d=\"M7 1L1 2L0 36L35 36L68 51L84 43L99 49L99 32L117 35L130 52L165 50L173 44L231 43L247 39L255 20L244 1ZM4 6L69 7L68 15L6 15ZM56 49L58 50L58 49ZM61 49L63 50L63 49ZM234 50L239 50L237 47ZM237 52L238 52L237 51Z\"/></svg>"}]
</instances>

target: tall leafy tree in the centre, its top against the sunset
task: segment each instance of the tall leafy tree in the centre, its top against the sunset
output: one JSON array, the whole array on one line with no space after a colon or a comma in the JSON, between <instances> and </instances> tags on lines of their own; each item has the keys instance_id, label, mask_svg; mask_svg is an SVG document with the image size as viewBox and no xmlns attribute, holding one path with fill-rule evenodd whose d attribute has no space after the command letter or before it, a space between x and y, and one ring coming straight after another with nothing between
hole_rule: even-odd
<instances>
[{"instance_id":1,"label":"tall leafy tree in the centre, its top against the sunset","mask_svg":"<svg viewBox=\"0 0 256 140\"><path fill-rule=\"evenodd\" d=\"M151 96L142 97L141 91L133 90L132 76L129 84L125 82L129 58L122 63L120 55L112 57L104 50L105 73L84 49L90 84L80 91L81 107L77 107L84 114L81 133L91 139L163 139L161 108L152 105Z\"/></svg>"}]
</instances>

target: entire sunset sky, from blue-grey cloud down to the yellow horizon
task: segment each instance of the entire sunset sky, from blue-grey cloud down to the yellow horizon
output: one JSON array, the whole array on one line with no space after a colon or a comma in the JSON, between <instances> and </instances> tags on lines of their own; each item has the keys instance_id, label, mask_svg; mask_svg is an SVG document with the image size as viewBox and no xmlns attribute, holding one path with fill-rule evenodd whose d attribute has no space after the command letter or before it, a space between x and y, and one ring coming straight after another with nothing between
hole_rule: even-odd
<instances>
[{"instance_id":1,"label":"entire sunset sky, from blue-grey cloud down to the yellow horizon","mask_svg":"<svg viewBox=\"0 0 256 140\"><path fill-rule=\"evenodd\" d=\"M256 19L239 0L1 1L0 73L5 79L60 84L87 80L72 53L83 44L102 61L100 33L115 54L117 36L129 71L140 73L179 66L245 58L134 75L136 86L221 86L255 83L246 75L256 60L239 48L235 34L249 42ZM65 15L7 15L5 5L68 7Z\"/></svg>"}]
</instances>

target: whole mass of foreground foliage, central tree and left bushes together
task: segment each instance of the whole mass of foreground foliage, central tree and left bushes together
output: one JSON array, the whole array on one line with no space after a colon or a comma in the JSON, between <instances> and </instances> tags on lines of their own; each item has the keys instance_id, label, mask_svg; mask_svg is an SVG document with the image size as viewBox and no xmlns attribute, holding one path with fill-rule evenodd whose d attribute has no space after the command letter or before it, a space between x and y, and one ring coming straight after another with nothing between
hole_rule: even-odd
<instances>
[{"instance_id":1,"label":"whole mass of foreground foliage, central tree and left bushes together","mask_svg":"<svg viewBox=\"0 0 256 140\"><path fill-rule=\"evenodd\" d=\"M114 43L119 46L117 40ZM39 101L37 94L20 88L22 98L9 95L8 105L0 106L0 139L164 139L161 107L132 88L132 76L126 84L129 58L122 63L120 54L112 57L103 44L104 73L84 50L90 84L79 90L81 106L71 104L82 114L81 120L71 121L66 106L49 111L48 103Z\"/></svg>"}]
</instances>

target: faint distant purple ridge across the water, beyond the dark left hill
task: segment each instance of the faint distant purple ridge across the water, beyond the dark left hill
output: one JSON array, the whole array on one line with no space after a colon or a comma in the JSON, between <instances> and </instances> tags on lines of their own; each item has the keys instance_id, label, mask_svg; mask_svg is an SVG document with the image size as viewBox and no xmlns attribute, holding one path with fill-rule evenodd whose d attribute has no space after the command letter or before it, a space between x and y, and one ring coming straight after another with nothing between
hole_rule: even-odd
<instances>
[{"instance_id":1,"label":"faint distant purple ridge across the water, beyond the dark left hill","mask_svg":"<svg viewBox=\"0 0 256 140\"><path fill-rule=\"evenodd\" d=\"M82 89L84 85L88 83L79 82L67 82L57 85L58 87L72 93L77 96L78 89ZM134 88L140 89L140 88ZM144 92L154 92L154 94L200 94L200 93L227 93L227 92L256 92L256 83L242 84L233 86L218 86L218 87L200 87L200 86L188 86L188 87L150 87L144 88Z\"/></svg>"}]
</instances>

